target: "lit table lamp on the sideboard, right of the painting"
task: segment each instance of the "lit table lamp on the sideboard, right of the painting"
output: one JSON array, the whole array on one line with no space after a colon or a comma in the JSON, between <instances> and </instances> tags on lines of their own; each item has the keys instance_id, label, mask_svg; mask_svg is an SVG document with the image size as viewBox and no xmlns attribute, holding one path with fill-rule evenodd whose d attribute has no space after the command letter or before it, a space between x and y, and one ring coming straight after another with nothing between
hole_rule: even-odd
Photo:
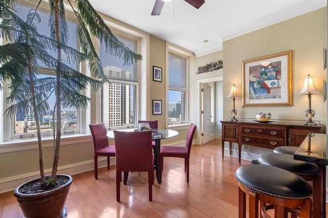
<instances>
[{"instance_id":1,"label":"lit table lamp on the sideboard, right of the painting","mask_svg":"<svg viewBox=\"0 0 328 218\"><path fill-rule=\"evenodd\" d=\"M311 95L319 93L314 85L313 77L308 74L308 76L304 80L304 86L301 90L300 94L306 94L309 98L309 109L305 111L305 117L308 117L308 121L304 123L304 125L308 126L315 126L317 125L315 122L312 121L312 118L315 115L315 111L311 109Z\"/></svg>"}]
</instances>

